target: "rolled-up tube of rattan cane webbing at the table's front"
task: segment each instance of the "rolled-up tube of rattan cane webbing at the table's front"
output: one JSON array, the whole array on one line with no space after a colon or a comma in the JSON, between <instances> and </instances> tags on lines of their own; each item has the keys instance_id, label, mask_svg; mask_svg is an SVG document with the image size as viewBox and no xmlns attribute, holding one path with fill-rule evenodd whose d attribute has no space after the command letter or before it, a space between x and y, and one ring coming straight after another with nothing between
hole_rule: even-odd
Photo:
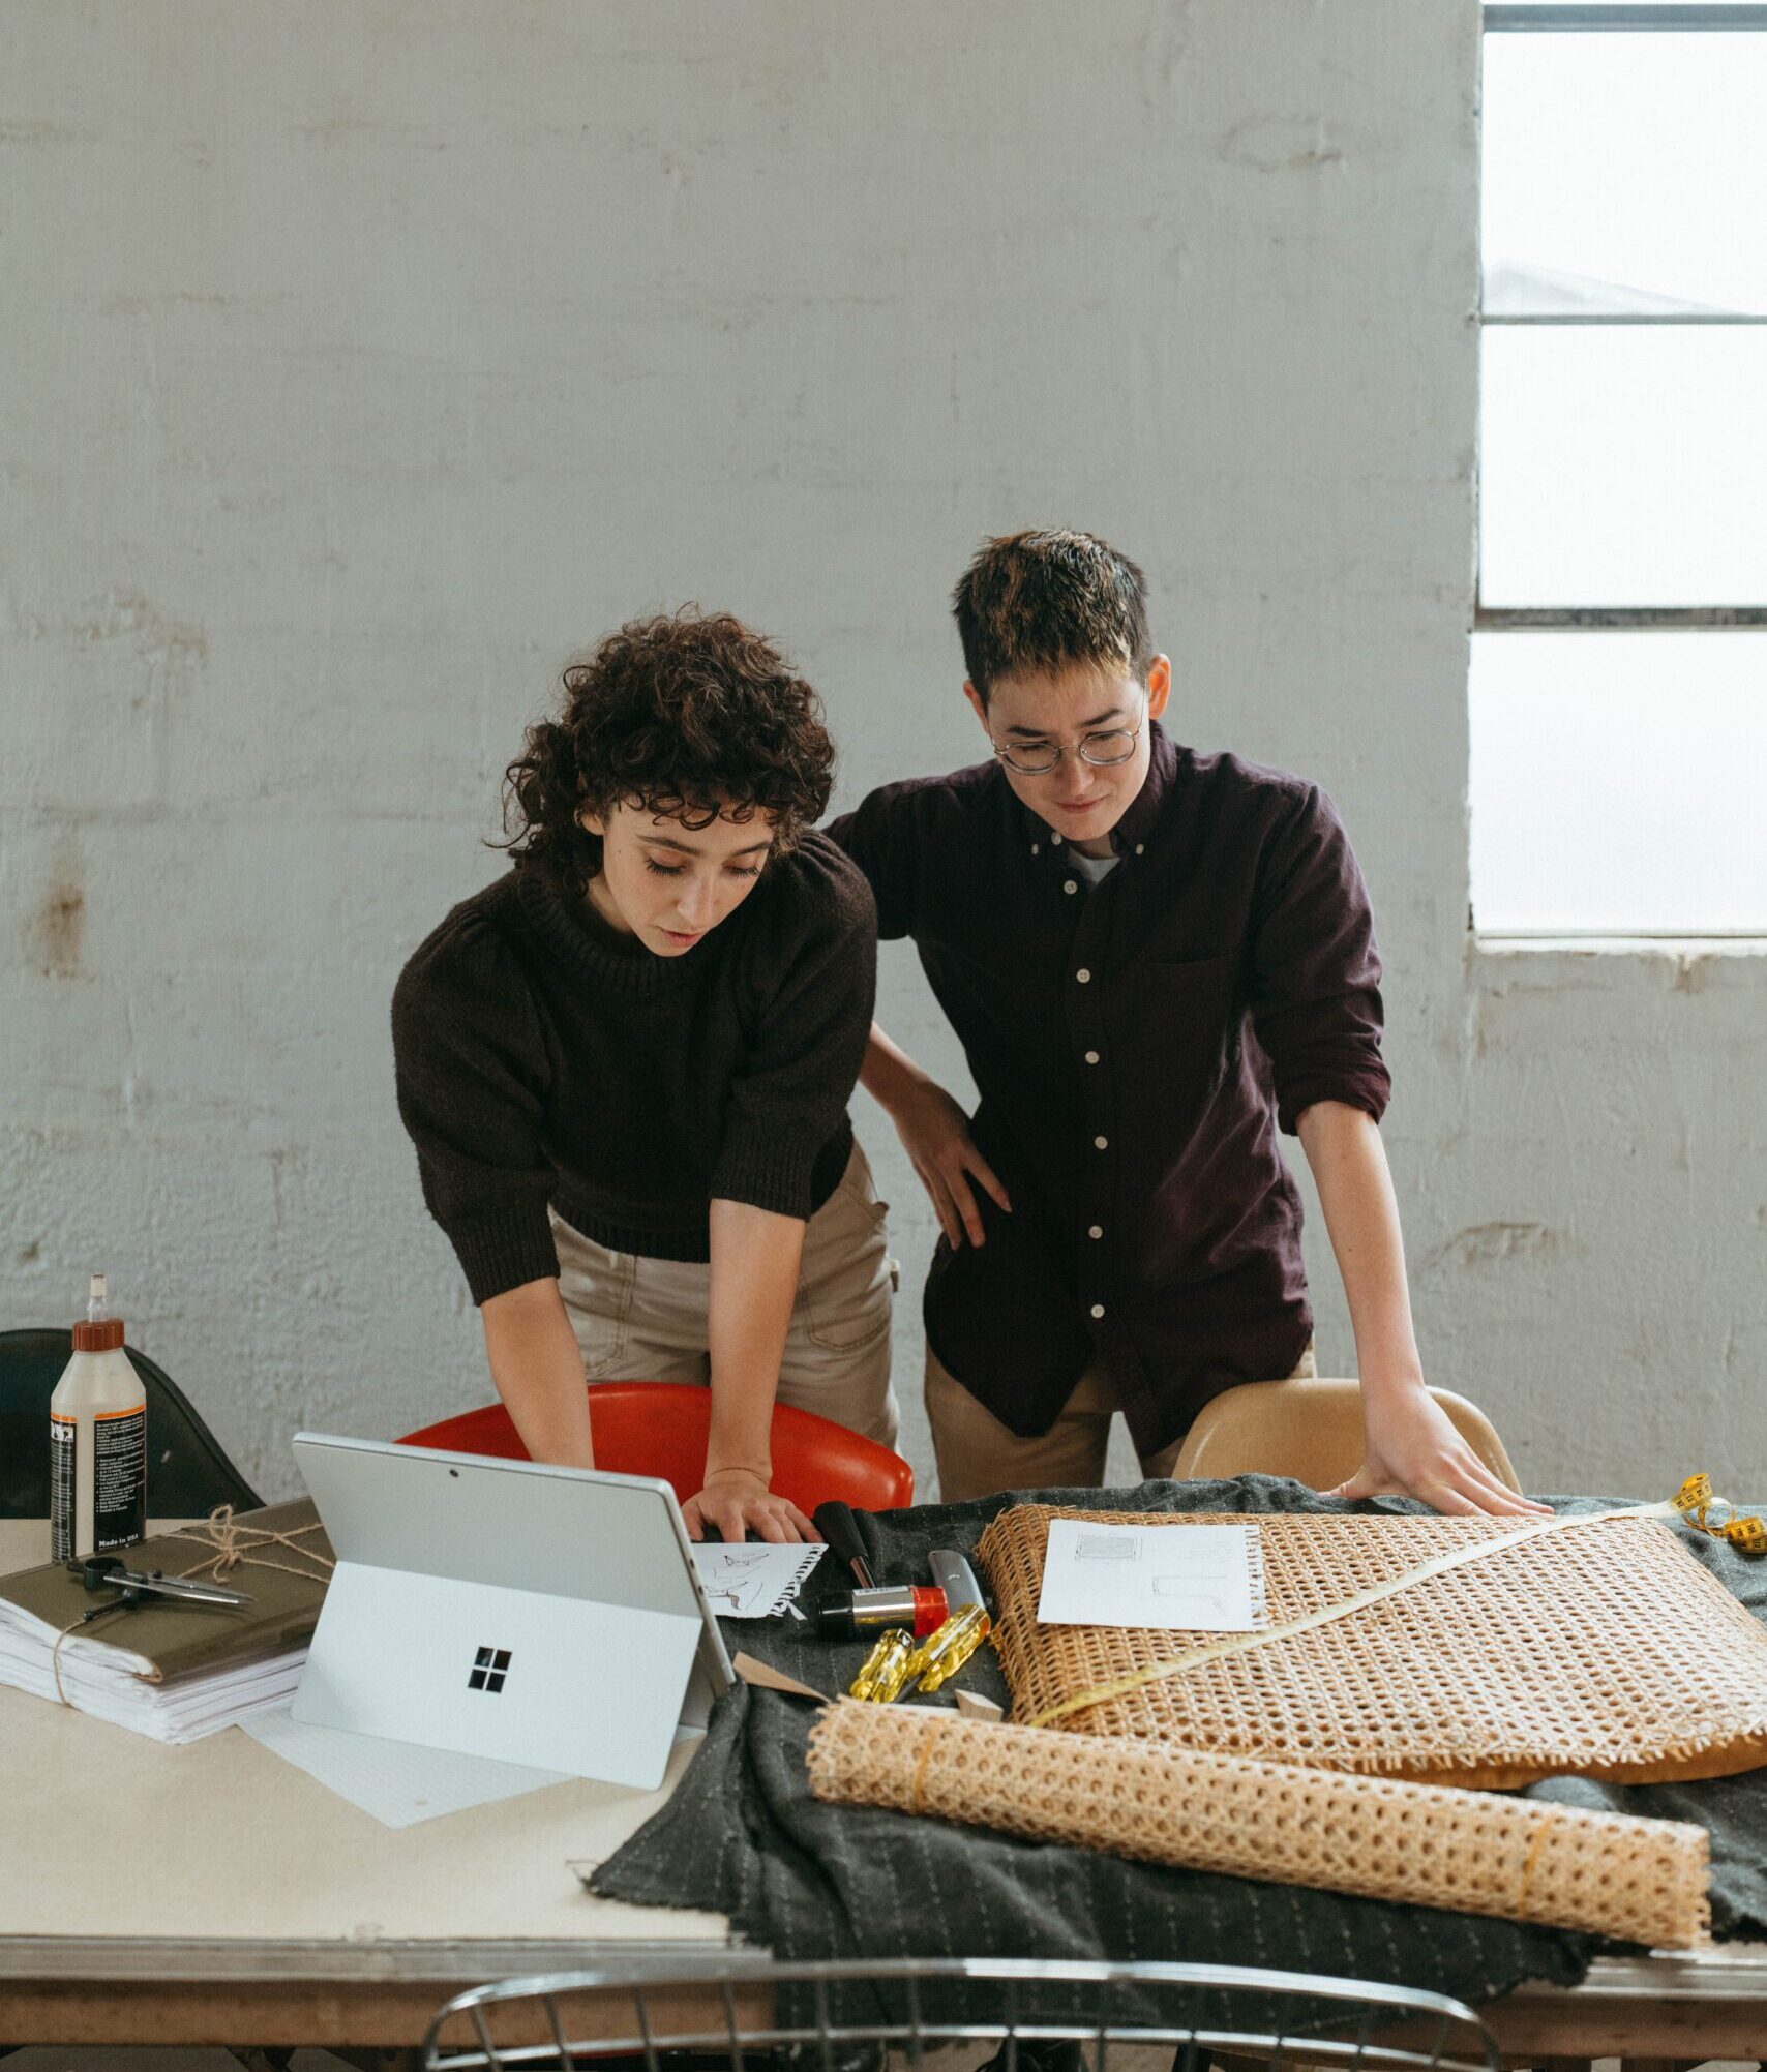
<instances>
[{"instance_id":1,"label":"rolled-up tube of rattan cane webbing at the table's front","mask_svg":"<svg viewBox=\"0 0 1767 2072\"><path fill-rule=\"evenodd\" d=\"M1707 1836L1682 1821L996 1726L926 1705L829 1705L810 1730L810 1790L1657 1948L1686 1948L1709 1927Z\"/></svg>"}]
</instances>

